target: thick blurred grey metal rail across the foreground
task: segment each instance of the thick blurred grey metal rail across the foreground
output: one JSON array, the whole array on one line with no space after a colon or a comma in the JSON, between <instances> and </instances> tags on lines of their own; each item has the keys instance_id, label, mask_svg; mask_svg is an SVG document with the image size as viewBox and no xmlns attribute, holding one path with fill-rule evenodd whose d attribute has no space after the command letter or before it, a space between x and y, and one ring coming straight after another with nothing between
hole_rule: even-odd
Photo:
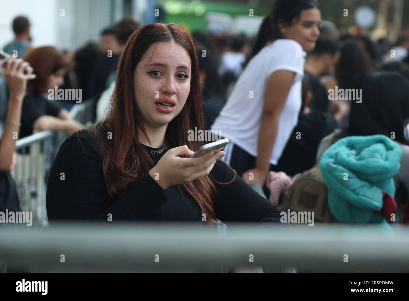
<instances>
[{"instance_id":1,"label":"thick blurred grey metal rail across the foreground","mask_svg":"<svg viewBox=\"0 0 409 301\"><path fill-rule=\"evenodd\" d=\"M0 225L1 227L4 225ZM8 224L0 261L25 272L409 272L409 229L315 224L287 229L198 224ZM2 229L2 230L4 230ZM252 260L250 260L252 258Z\"/></svg>"}]
</instances>

